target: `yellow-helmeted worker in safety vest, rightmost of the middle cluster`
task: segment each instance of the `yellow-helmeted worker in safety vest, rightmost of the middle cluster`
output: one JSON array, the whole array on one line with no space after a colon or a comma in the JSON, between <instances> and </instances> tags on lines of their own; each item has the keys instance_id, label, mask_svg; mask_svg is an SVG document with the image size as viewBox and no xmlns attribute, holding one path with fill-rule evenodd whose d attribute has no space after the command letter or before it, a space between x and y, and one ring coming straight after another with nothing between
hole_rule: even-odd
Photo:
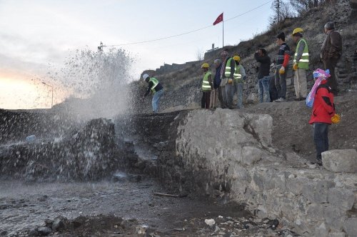
<instances>
[{"instance_id":1,"label":"yellow-helmeted worker in safety vest, rightmost of the middle cluster","mask_svg":"<svg viewBox=\"0 0 357 237\"><path fill-rule=\"evenodd\" d=\"M234 94L237 93L237 108L243 108L243 84L246 81L246 70L244 70L243 66L240 64L241 57L236 55L233 56L233 60L236 62L236 70L233 74L233 90L232 90L232 98Z\"/></svg>"}]
</instances>

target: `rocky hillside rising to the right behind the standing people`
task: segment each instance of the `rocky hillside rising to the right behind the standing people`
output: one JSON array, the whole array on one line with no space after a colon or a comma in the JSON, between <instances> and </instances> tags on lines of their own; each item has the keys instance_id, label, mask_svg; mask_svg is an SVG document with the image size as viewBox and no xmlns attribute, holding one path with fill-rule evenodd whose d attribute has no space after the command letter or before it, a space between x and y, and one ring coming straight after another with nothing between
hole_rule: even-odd
<instances>
[{"instance_id":1,"label":"rocky hillside rising to the right behind the standing people","mask_svg":"<svg viewBox=\"0 0 357 237\"><path fill-rule=\"evenodd\" d=\"M352 2L352 1L351 1ZM268 29L263 34L242 41L236 46L225 46L231 55L238 54L241 56L241 64L246 69L247 83L243 91L243 104L256 104L258 89L256 87L256 62L253 59L253 53L263 47L268 51L268 55L272 61L276 57L278 46L276 46L276 35L283 31L286 36L286 42L291 47L291 51L295 51L296 45L293 44L291 32L296 27L304 29L303 36L308 41L310 51L310 70L308 71L308 89L312 86L312 71L313 69L322 68L322 63L319 59L321 44L326 35L323 33L323 25L327 21L335 21L336 29L343 37L343 55L336 68L336 76L338 79L341 95L346 91L356 89L356 68L353 66L353 53L357 45L356 30L357 21L355 12L349 1L337 0L336 4L325 4L316 9L311 9L303 16L286 19L277 27ZM206 53L203 61L189 62L187 64L173 64L172 66L161 66L161 69L156 71L144 71L151 76L155 76L165 88L165 94L161 100L161 111L173 111L176 109L193 109L199 107L201 99L200 84L201 84L201 64L207 62L213 65L214 59L219 59L219 54L222 49ZM290 61L290 69L292 59ZM166 69L166 70L165 70ZM291 100L294 96L293 91L293 73L289 70L287 78L287 99ZM213 67L212 72L214 73ZM136 81L132 86L134 94L133 106L134 111L151 112L151 100L137 100L145 89L146 84L142 81ZM136 96L135 96L136 95Z\"/></svg>"}]
</instances>

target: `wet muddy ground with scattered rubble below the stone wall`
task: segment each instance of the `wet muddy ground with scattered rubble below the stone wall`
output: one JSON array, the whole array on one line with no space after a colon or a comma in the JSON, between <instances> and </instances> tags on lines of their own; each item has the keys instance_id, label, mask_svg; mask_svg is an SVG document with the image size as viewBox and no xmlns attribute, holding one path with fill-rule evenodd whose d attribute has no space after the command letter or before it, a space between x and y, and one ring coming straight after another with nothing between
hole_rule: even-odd
<instances>
[{"instance_id":1,"label":"wet muddy ground with scattered rubble below the stone wall","mask_svg":"<svg viewBox=\"0 0 357 237\"><path fill-rule=\"evenodd\" d=\"M150 178L96 183L0 182L0 236L278 236L283 226L236 203L166 197ZM63 225L54 228L57 216ZM205 220L213 218L208 226ZM211 220L212 221L212 220ZM46 232L46 226L49 229ZM39 228L41 227L41 228Z\"/></svg>"}]
</instances>

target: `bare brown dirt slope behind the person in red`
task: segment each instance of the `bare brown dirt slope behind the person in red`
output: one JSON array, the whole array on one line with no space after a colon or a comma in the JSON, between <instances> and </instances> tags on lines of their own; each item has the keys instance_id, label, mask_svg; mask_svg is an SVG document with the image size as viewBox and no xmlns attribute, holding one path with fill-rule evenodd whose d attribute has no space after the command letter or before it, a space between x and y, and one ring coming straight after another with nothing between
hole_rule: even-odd
<instances>
[{"instance_id":1,"label":"bare brown dirt slope behind the person in red","mask_svg":"<svg viewBox=\"0 0 357 237\"><path fill-rule=\"evenodd\" d=\"M329 149L357 147L357 91L335 98L336 112L341 122L328 128ZM294 151L309 160L316 158L313 128L308 121L311 109L305 101L263 103L244 109L249 113L270 114L273 117L273 146L282 151Z\"/></svg>"}]
</instances>

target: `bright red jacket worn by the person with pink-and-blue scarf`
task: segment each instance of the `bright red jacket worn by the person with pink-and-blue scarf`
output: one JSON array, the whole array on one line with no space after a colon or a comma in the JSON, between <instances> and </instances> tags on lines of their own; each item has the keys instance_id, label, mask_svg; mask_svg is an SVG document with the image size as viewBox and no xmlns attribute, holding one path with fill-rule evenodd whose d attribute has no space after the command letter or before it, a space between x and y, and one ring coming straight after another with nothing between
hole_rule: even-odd
<instances>
[{"instance_id":1,"label":"bright red jacket worn by the person with pink-and-blue scarf","mask_svg":"<svg viewBox=\"0 0 357 237\"><path fill-rule=\"evenodd\" d=\"M313 99L313 111L308 123L331 124L331 118L335 113L331 87L327 85L327 80L323 80L321 81L321 85L316 89L316 94Z\"/></svg>"}]
</instances>

